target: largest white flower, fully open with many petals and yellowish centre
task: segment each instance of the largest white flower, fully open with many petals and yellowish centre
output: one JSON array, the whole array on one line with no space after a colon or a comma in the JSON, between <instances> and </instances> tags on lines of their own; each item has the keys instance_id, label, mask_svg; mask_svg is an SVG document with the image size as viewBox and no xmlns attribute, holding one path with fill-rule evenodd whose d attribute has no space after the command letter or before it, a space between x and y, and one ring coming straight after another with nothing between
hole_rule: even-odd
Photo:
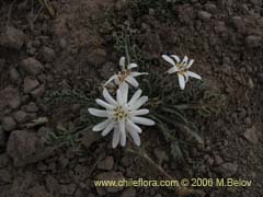
<instances>
[{"instance_id":1,"label":"largest white flower, fully open with many petals and yellowish centre","mask_svg":"<svg viewBox=\"0 0 263 197\"><path fill-rule=\"evenodd\" d=\"M105 108L105 111L89 108L89 113L99 116L106 117L106 119L93 127L93 131L102 131L102 136L106 136L111 130L113 131L113 148L117 144L124 147L126 144L127 134L133 138L137 146L140 146L139 134L141 129L138 125L155 125L155 121L140 117L149 113L149 109L139 109L147 101L148 96L141 96L141 90L137 90L133 97L128 101L128 85L124 85L123 89L117 90L116 100L114 100L106 89L103 90L103 96L106 102L102 100L95 100L95 102Z\"/></svg>"}]
</instances>

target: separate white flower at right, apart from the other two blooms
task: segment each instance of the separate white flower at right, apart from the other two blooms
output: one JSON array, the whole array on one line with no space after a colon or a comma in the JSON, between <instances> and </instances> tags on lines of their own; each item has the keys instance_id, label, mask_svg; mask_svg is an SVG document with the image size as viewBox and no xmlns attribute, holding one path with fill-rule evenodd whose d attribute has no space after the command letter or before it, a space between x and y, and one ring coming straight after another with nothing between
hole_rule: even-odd
<instances>
[{"instance_id":1,"label":"separate white flower at right, apart from the other two blooms","mask_svg":"<svg viewBox=\"0 0 263 197\"><path fill-rule=\"evenodd\" d=\"M168 70L168 73L178 72L179 84L182 90L184 90L185 84L188 81L188 77L195 78L198 80L202 79L199 74L188 71L194 60L193 59L188 60L187 56L184 56L182 61L180 60L179 56L175 56L175 55L171 55L170 57L167 55L162 55L162 58L172 65L172 68Z\"/></svg>"}]
</instances>

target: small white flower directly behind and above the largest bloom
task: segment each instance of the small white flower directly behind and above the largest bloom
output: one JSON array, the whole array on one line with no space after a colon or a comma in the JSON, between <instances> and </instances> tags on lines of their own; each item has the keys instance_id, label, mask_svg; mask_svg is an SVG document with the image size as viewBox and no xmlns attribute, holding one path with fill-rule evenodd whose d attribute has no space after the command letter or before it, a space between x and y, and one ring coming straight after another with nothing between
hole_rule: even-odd
<instances>
[{"instance_id":1,"label":"small white flower directly behind and above the largest bloom","mask_svg":"<svg viewBox=\"0 0 263 197\"><path fill-rule=\"evenodd\" d=\"M123 84L130 84L135 88L139 86L138 81L135 79L138 76L142 76L142 74L148 74L147 72L136 72L136 71L132 71L133 68L137 68L138 65L137 63L128 63L126 66L126 59L125 57L122 57L119 59L119 67L121 67L121 71L114 76L112 76L106 83L104 84L107 85L110 82L114 81L115 84L117 84L118 86L122 86Z\"/></svg>"}]
</instances>

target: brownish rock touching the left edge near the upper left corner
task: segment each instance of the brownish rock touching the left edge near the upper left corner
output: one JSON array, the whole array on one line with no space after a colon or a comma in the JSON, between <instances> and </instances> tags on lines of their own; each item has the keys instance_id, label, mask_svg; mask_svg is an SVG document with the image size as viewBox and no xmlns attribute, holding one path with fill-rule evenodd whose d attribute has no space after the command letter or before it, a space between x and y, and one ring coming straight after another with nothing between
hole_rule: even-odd
<instances>
[{"instance_id":1,"label":"brownish rock touching the left edge near the upper left corner","mask_svg":"<svg viewBox=\"0 0 263 197\"><path fill-rule=\"evenodd\" d=\"M25 35L21 30L9 26L4 33L0 35L0 46L21 49L25 42Z\"/></svg>"}]
</instances>

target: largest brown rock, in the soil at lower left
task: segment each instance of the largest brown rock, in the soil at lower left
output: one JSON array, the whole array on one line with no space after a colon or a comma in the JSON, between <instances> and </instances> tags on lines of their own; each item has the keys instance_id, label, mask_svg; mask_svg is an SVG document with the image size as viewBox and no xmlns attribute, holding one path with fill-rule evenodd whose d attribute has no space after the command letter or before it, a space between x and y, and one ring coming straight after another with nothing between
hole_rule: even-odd
<instances>
[{"instance_id":1,"label":"largest brown rock, in the soil at lower left","mask_svg":"<svg viewBox=\"0 0 263 197\"><path fill-rule=\"evenodd\" d=\"M53 148L46 147L35 132L15 130L10 135L7 152L15 166L24 166L48 158L53 154Z\"/></svg>"}]
</instances>

